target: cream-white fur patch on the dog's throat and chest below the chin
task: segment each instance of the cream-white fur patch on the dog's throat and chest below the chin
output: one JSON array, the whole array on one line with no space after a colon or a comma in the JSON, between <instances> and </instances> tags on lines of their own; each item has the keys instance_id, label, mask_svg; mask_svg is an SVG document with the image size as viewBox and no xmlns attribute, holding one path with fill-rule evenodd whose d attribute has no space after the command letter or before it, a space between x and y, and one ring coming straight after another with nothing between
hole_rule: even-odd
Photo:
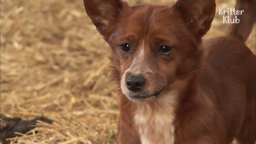
<instances>
[{"instance_id":1,"label":"cream-white fur patch on the dog's throat and chest below the chin","mask_svg":"<svg viewBox=\"0 0 256 144\"><path fill-rule=\"evenodd\" d=\"M173 144L177 94L159 95L153 101L138 104L134 124L142 144Z\"/></svg>"}]
</instances>

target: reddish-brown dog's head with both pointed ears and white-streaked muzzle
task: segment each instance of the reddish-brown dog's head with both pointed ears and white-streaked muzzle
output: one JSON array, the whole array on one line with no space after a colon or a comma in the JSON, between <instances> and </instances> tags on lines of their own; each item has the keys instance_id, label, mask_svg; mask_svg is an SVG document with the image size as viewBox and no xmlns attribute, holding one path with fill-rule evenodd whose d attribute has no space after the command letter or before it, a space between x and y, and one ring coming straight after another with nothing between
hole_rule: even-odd
<instances>
[{"instance_id":1,"label":"reddish-brown dog's head with both pointed ears and white-streaked muzzle","mask_svg":"<svg viewBox=\"0 0 256 144\"><path fill-rule=\"evenodd\" d=\"M199 44L215 14L215 0L132 7L122 0L84 0L84 6L112 49L123 94L135 102L170 91L173 81L196 71Z\"/></svg>"}]
</instances>

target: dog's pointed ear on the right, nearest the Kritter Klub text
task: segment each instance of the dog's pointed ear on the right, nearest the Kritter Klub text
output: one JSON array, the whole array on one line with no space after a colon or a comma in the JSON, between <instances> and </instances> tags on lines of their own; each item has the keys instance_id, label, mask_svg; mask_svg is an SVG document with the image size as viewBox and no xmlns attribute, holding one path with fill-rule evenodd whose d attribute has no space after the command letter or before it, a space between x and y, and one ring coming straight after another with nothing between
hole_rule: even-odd
<instances>
[{"instance_id":1,"label":"dog's pointed ear on the right, nearest the Kritter Klub text","mask_svg":"<svg viewBox=\"0 0 256 144\"><path fill-rule=\"evenodd\" d=\"M174 8L181 13L188 28L198 39L211 28L215 15L215 0L178 0Z\"/></svg>"}]
</instances>

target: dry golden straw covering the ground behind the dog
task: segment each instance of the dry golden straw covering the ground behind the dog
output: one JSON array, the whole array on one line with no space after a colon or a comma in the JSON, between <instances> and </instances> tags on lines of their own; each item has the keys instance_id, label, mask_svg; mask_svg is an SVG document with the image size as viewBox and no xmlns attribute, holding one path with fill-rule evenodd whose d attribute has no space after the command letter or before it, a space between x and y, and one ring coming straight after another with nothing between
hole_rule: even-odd
<instances>
[{"instance_id":1,"label":"dry golden straw covering the ground behind the dog","mask_svg":"<svg viewBox=\"0 0 256 144\"><path fill-rule=\"evenodd\" d=\"M44 115L55 121L19 142L118 143L118 95L111 83L110 48L86 15L83 0L0 2L1 113L23 119ZM234 4L235 0L217 0L217 8ZM220 36L226 27L217 10L206 37ZM255 27L246 44L255 53Z\"/></svg>"}]
</instances>

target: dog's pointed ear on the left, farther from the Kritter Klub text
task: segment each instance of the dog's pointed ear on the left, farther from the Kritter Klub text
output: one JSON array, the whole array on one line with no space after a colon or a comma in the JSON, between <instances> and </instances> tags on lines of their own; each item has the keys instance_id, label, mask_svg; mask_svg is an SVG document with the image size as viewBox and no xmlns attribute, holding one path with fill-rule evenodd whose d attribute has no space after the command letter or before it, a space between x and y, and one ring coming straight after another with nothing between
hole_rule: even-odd
<instances>
[{"instance_id":1,"label":"dog's pointed ear on the left, farther from the Kritter Klub text","mask_svg":"<svg viewBox=\"0 0 256 144\"><path fill-rule=\"evenodd\" d=\"M87 15L103 36L124 6L128 4L122 0L84 0Z\"/></svg>"}]
</instances>

